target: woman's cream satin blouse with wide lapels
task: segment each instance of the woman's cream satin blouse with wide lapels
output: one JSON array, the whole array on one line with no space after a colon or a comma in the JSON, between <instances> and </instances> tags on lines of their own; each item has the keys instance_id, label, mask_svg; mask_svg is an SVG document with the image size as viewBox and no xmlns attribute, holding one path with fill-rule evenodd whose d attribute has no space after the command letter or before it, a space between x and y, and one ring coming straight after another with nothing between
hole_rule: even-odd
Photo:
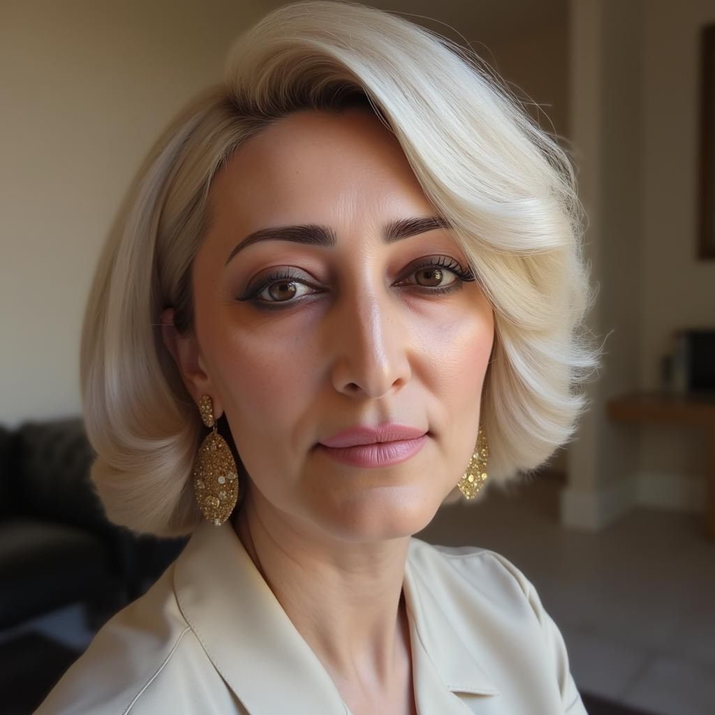
<instances>
[{"instance_id":1,"label":"woman's cream satin blouse with wide lapels","mask_svg":"<svg viewBox=\"0 0 715 715\"><path fill-rule=\"evenodd\" d=\"M419 715L586 714L560 631L485 548L410 539L403 582ZM36 714L350 715L230 523L204 523L101 628Z\"/></svg>"}]
</instances>

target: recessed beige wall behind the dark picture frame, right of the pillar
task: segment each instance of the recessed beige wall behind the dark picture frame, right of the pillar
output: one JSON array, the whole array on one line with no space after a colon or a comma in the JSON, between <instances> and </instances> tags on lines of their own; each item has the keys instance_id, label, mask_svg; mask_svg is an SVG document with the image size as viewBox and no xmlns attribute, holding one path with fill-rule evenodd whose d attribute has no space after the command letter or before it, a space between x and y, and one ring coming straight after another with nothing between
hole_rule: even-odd
<instances>
[{"instance_id":1,"label":"recessed beige wall behind the dark picture frame, right of the pillar","mask_svg":"<svg viewBox=\"0 0 715 715\"><path fill-rule=\"evenodd\" d=\"M715 260L696 259L699 162L699 28L715 3L659 1L644 27L644 251L641 257L639 385L658 384L658 356L678 327L715 327ZM706 463L695 430L641 430L641 469L701 480ZM692 480L691 480L692 482ZM694 485L688 487L694 489Z\"/></svg>"}]
</instances>

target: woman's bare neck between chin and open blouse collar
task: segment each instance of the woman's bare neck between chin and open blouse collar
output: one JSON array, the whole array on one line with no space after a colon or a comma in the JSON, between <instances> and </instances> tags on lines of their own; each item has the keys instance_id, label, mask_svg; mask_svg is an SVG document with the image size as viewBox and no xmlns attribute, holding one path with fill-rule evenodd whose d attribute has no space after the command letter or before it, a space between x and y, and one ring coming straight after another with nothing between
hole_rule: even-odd
<instances>
[{"instance_id":1,"label":"woman's bare neck between chin and open blouse collar","mask_svg":"<svg viewBox=\"0 0 715 715\"><path fill-rule=\"evenodd\" d=\"M326 538L250 493L234 528L345 699L359 701L365 692L380 694L384 704L404 694L411 673L402 593L409 537Z\"/></svg>"}]
</instances>

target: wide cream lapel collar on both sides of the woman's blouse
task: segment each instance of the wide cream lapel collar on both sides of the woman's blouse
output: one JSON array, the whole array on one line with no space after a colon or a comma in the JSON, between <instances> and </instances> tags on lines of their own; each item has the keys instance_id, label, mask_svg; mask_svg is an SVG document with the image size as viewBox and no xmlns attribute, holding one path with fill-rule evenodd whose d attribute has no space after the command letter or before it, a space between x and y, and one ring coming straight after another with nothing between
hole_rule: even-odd
<instances>
[{"instance_id":1,"label":"wide cream lapel collar on both sides of the woman's blouse","mask_svg":"<svg viewBox=\"0 0 715 715\"><path fill-rule=\"evenodd\" d=\"M430 547L410 540L403 583L415 697L422 712L463 714L454 693L498 690L430 592L425 577L435 576L423 573L424 548ZM229 522L202 523L194 531L175 563L174 591L207 656L250 713L284 712L290 705L296 715L350 715Z\"/></svg>"}]
</instances>

